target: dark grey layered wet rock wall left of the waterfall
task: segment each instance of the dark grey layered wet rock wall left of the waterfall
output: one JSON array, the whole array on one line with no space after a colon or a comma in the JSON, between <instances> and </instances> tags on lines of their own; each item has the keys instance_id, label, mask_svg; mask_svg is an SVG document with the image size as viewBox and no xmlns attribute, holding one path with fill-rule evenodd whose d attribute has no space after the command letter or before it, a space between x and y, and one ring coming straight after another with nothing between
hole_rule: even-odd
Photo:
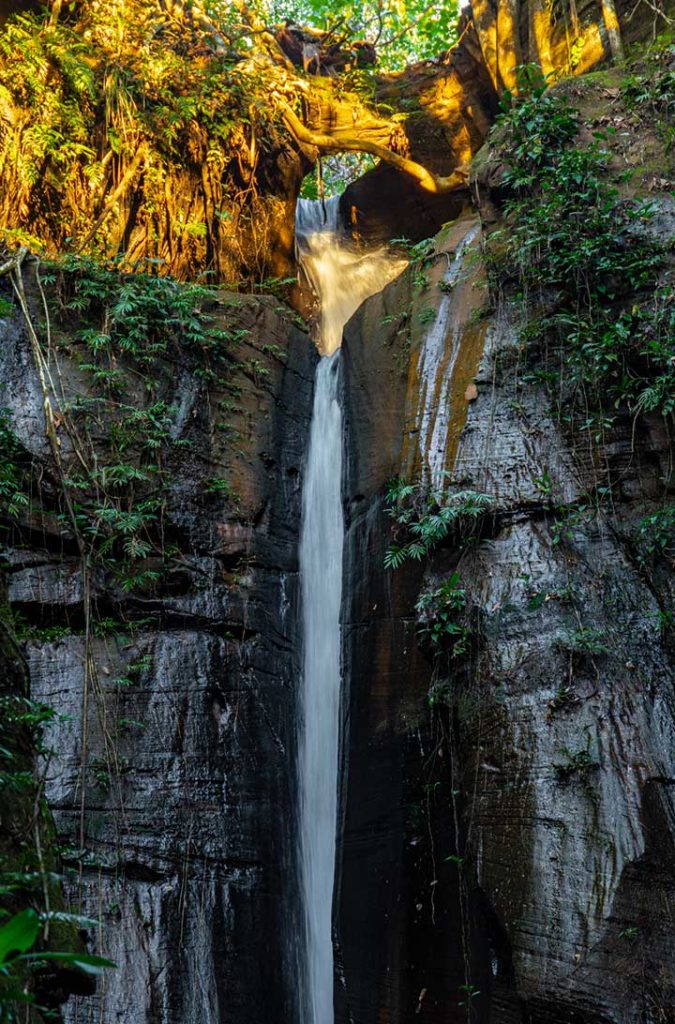
<instances>
[{"instance_id":1,"label":"dark grey layered wet rock wall left of the waterfall","mask_svg":"<svg viewBox=\"0 0 675 1024\"><path fill-rule=\"evenodd\" d=\"M315 357L272 301L244 299L238 315L226 432L220 396L172 378L175 434L192 444L171 475L178 552L155 591L125 594L94 568L87 639L62 522L33 513L6 552L32 696L61 716L46 796L67 864L82 863L69 895L100 916L90 946L118 964L69 1022L295 1019L297 537ZM41 395L20 324L2 331L0 406L37 475ZM64 356L67 391L75 374ZM214 477L236 500L206 493Z\"/></svg>"}]
</instances>

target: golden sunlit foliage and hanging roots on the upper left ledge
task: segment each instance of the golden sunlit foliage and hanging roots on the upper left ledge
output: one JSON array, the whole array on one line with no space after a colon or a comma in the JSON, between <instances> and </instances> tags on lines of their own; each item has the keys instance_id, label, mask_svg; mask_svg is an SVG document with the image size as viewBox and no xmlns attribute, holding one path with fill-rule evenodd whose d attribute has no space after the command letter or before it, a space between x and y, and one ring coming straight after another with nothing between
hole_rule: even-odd
<instances>
[{"instance_id":1,"label":"golden sunlit foliage and hanging roots on the upper left ledge","mask_svg":"<svg viewBox=\"0 0 675 1024\"><path fill-rule=\"evenodd\" d=\"M292 76L273 44L261 73L248 11L78 3L50 25L35 6L0 31L0 241L257 279L278 200L255 176Z\"/></svg>"}]
</instances>

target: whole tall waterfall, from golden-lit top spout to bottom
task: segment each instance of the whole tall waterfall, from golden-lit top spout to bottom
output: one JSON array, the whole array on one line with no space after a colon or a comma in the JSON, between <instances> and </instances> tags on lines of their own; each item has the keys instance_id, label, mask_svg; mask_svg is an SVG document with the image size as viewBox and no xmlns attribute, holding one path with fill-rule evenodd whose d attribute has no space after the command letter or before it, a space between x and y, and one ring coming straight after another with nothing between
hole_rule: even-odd
<instances>
[{"instance_id":1,"label":"whole tall waterfall, from golden-lit top spout to bottom","mask_svg":"<svg viewBox=\"0 0 675 1024\"><path fill-rule=\"evenodd\" d=\"M314 402L302 499L303 680L298 737L300 891L304 916L301 1024L333 1024L332 910L340 741L342 412L339 348L347 319L405 265L358 253L338 229L338 200L298 203L298 257L321 307Z\"/></svg>"}]
</instances>

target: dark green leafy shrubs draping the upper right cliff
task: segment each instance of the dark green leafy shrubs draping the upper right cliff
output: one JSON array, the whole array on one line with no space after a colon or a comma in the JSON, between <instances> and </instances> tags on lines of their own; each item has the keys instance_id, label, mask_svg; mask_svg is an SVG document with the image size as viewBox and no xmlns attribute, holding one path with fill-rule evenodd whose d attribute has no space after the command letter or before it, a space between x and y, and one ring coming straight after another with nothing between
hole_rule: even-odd
<instances>
[{"instance_id":1,"label":"dark green leafy shrubs draping the upper right cliff","mask_svg":"<svg viewBox=\"0 0 675 1024\"><path fill-rule=\"evenodd\" d=\"M510 104L493 133L512 198L491 263L538 309L530 334L559 346L561 415L571 388L598 439L622 409L671 415L675 302L647 229L657 207L620 199L607 182L609 136L573 144L578 116L555 93L541 87Z\"/></svg>"}]
</instances>

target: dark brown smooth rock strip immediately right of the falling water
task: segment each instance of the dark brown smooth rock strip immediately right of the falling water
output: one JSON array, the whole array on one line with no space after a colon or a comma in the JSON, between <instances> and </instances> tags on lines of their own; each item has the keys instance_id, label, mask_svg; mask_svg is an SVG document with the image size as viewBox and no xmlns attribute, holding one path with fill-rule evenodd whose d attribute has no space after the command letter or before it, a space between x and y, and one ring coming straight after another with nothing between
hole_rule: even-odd
<instances>
[{"instance_id":1,"label":"dark brown smooth rock strip immediately right of the falling water","mask_svg":"<svg viewBox=\"0 0 675 1024\"><path fill-rule=\"evenodd\" d=\"M460 220L436 254L369 300L347 325L343 380L348 465L344 577L345 779L338 912L337 1021L441 1022L464 981L453 766L429 714L431 667L416 637L421 569L384 569L389 519L385 484L420 471L417 438L438 381L420 388L429 310L447 296L450 319L466 325L479 275L438 288L475 221ZM421 279L424 279L423 281ZM445 314L444 314L445 315ZM433 317L432 317L433 318ZM450 321L449 321L450 322ZM444 337L444 342L446 338ZM472 379L479 352L468 373ZM471 358L467 353L468 362ZM468 365L468 364L467 364ZM466 387L466 384L465 384ZM446 424L450 436L466 414ZM439 428L440 429L440 428Z\"/></svg>"}]
</instances>

